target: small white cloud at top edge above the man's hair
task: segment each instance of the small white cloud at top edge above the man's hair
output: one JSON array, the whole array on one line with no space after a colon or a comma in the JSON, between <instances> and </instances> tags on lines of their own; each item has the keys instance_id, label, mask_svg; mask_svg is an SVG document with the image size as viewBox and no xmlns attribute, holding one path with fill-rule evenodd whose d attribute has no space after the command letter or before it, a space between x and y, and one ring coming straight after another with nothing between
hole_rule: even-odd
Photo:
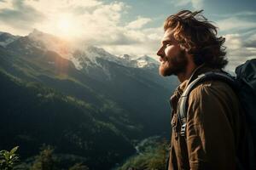
<instances>
[{"instance_id":1,"label":"small white cloud at top edge above the man's hair","mask_svg":"<svg viewBox=\"0 0 256 170\"><path fill-rule=\"evenodd\" d=\"M192 7L195 9L202 9L204 0L179 0L179 1L172 0L171 3L175 7L183 7L186 5L192 5Z\"/></svg>"}]
</instances>

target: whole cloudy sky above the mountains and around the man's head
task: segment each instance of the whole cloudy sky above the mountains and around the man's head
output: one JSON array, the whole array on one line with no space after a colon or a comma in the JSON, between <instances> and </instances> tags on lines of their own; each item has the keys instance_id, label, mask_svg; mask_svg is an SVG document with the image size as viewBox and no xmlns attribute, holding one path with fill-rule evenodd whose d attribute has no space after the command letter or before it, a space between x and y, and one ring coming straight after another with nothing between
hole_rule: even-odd
<instances>
[{"instance_id":1,"label":"whole cloudy sky above the mountains and around the man's head","mask_svg":"<svg viewBox=\"0 0 256 170\"><path fill-rule=\"evenodd\" d=\"M0 31L26 36L36 28L111 54L157 59L163 22L181 9L203 9L218 26L227 70L256 58L255 0L0 0Z\"/></svg>"}]
</instances>

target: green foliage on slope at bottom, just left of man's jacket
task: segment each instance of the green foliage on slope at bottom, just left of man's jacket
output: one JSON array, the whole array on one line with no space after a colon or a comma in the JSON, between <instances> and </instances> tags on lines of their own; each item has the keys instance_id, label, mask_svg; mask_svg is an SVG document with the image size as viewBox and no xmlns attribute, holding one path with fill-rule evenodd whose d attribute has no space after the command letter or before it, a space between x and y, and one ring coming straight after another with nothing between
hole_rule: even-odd
<instances>
[{"instance_id":1,"label":"green foliage on slope at bottom, just left of man's jacket","mask_svg":"<svg viewBox=\"0 0 256 170\"><path fill-rule=\"evenodd\" d=\"M142 153L132 156L125 161L119 170L165 170L166 168L166 141L148 146Z\"/></svg>"}]
</instances>

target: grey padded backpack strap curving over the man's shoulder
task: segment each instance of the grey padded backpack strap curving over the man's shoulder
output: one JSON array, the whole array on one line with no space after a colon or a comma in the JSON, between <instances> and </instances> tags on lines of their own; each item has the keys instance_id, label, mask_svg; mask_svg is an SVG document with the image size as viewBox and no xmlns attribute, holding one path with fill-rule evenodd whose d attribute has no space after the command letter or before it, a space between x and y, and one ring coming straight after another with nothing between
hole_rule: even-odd
<instances>
[{"instance_id":1,"label":"grey padded backpack strap curving over the man's shoulder","mask_svg":"<svg viewBox=\"0 0 256 170\"><path fill-rule=\"evenodd\" d=\"M185 136L185 133L186 133L189 94L195 87L197 87L202 82L212 81L212 80L226 82L230 84L231 88L236 89L237 87L235 79L226 72L209 71L195 78L193 82L190 82L188 87L185 89L185 91L183 92L183 94L179 99L177 115L178 115L179 121L181 122L181 131L180 131L181 136Z\"/></svg>"}]
</instances>

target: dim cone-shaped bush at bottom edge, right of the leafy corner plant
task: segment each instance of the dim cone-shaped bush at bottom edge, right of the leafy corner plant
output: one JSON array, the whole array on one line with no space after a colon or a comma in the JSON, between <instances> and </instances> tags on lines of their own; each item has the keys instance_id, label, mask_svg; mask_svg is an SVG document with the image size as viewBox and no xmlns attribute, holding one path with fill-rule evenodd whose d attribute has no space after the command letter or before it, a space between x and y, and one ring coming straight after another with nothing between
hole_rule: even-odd
<instances>
[{"instance_id":1,"label":"dim cone-shaped bush at bottom edge, right of the leafy corner plant","mask_svg":"<svg viewBox=\"0 0 256 170\"><path fill-rule=\"evenodd\" d=\"M53 151L52 146L43 145L30 170L55 170Z\"/></svg>"}]
</instances>

